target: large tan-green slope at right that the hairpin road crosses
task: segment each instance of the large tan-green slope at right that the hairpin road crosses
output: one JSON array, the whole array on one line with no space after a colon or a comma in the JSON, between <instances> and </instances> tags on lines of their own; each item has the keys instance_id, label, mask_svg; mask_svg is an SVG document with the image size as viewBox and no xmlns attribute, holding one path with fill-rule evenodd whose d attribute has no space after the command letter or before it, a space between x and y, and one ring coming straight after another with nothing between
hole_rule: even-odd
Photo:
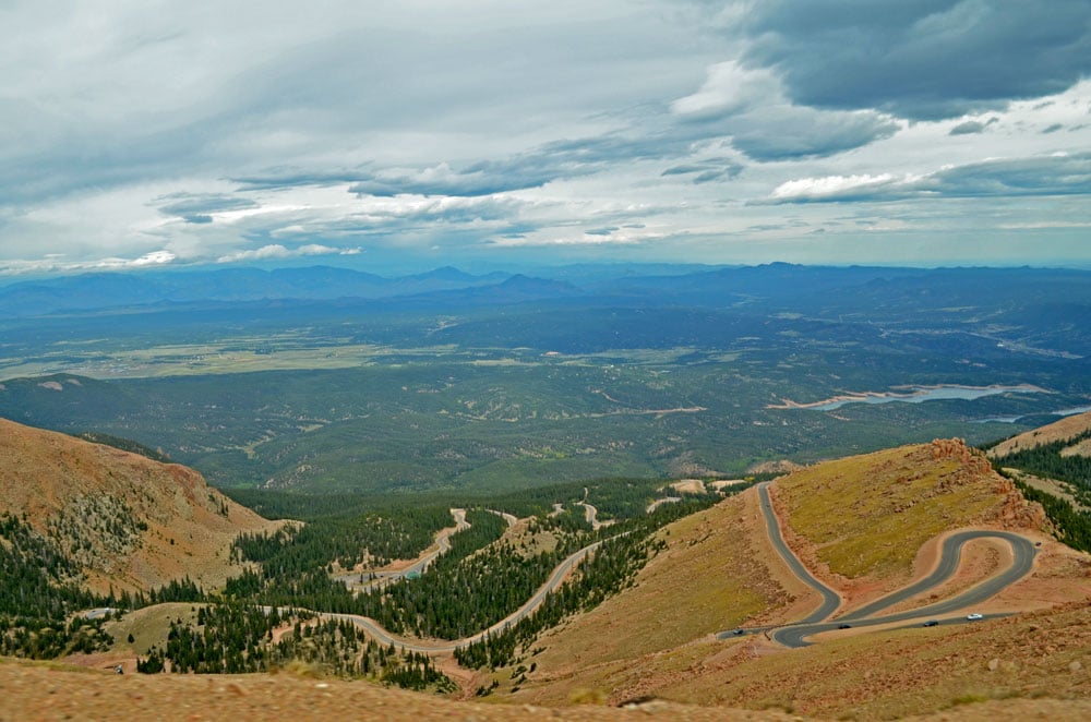
<instances>
[{"instance_id":1,"label":"large tan-green slope at right that the hairpin road crosses","mask_svg":"<svg viewBox=\"0 0 1091 722\"><path fill-rule=\"evenodd\" d=\"M792 552L841 597L832 631L804 649L777 645L768 634L731 633L736 625L763 630L799 621L819 601L778 561L757 490L748 490L664 528L668 550L635 586L537 640L524 661L532 659L533 671L519 689L503 689L503 698L536 705L588 695L610 703L660 698L885 719L959 699L1079 694L1086 672L1051 679L1051 670L1089 664L1091 638L1074 630L1088 619L1091 557L1053 541L1040 507L961 442L816 465L775 481L771 491ZM1015 616L967 626L962 610L943 615L950 625L936 628L921 628L920 619L886 626L853 619L859 629L836 628L842 613L926 576L937 564L938 540L966 528L1016 530L1039 544L1026 577L971 610ZM971 542L948 581L890 609L955 598L1006 568L1011 555L1000 542ZM983 678L980 672L991 669L1002 673ZM497 676L503 684L507 673Z\"/></svg>"}]
</instances>

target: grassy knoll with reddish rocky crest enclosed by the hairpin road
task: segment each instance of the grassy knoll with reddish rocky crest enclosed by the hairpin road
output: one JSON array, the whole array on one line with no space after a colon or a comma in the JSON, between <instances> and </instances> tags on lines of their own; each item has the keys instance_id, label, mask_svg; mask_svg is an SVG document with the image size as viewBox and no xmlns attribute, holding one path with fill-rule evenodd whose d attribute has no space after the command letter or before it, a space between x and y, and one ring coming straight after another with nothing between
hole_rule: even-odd
<instances>
[{"instance_id":1,"label":"grassy knoll with reddish rocky crest enclosed by the hairpin road","mask_svg":"<svg viewBox=\"0 0 1091 722\"><path fill-rule=\"evenodd\" d=\"M775 492L793 551L847 591L908 579L921 547L952 529L1045 526L1041 508L960 440L820 464Z\"/></svg>"}]
</instances>

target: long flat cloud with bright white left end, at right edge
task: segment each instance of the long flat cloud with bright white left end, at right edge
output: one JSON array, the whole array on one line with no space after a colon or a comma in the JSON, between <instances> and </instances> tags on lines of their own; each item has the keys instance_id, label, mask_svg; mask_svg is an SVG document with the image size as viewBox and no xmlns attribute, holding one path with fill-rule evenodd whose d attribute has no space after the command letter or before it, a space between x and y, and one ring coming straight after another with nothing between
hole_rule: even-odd
<instances>
[{"instance_id":1,"label":"long flat cloud with bright white left end, at right edge","mask_svg":"<svg viewBox=\"0 0 1091 722\"><path fill-rule=\"evenodd\" d=\"M762 203L1091 195L1091 153L1000 158L926 176L827 176L778 185Z\"/></svg>"}]
</instances>

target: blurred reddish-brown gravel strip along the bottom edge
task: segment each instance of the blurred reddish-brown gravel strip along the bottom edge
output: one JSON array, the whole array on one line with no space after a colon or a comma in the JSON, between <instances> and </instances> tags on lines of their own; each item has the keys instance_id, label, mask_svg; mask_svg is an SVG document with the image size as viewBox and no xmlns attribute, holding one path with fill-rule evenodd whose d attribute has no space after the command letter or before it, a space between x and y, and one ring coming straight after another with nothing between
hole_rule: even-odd
<instances>
[{"instance_id":1,"label":"blurred reddish-brown gravel strip along the bottom edge","mask_svg":"<svg viewBox=\"0 0 1091 722\"><path fill-rule=\"evenodd\" d=\"M459 702L363 682L277 675L116 675L0 661L0 720L792 720L649 702L633 709Z\"/></svg>"}]
</instances>

